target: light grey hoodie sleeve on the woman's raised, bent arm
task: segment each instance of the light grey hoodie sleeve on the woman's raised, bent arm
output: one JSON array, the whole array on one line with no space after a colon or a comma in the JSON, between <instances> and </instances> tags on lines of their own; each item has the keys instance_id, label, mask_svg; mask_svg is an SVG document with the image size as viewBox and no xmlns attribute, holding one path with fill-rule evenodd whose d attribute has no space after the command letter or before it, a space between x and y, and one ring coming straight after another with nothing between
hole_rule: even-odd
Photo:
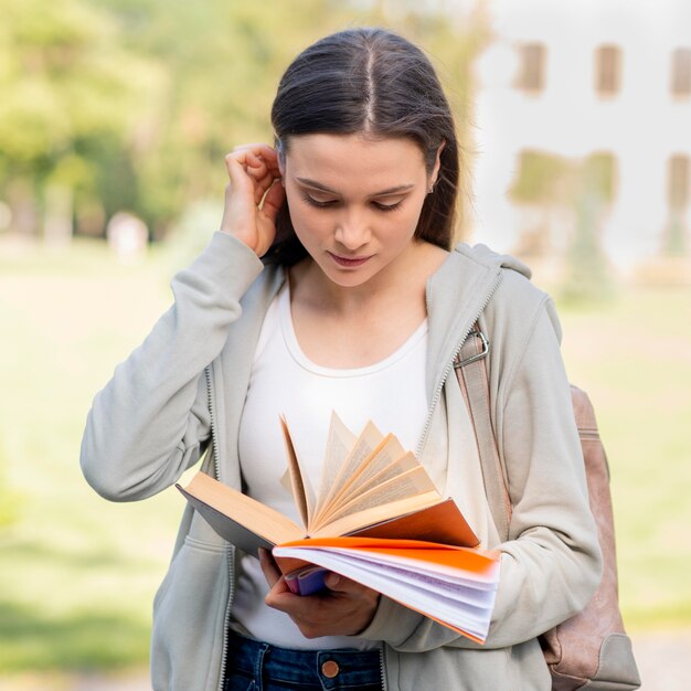
<instances>
[{"instance_id":1,"label":"light grey hoodie sleeve on the woman's raised, bent arm","mask_svg":"<svg viewBox=\"0 0 691 691\"><path fill-rule=\"evenodd\" d=\"M116 368L88 414L81 464L99 495L150 497L199 459L210 436L204 369L221 352L261 270L251 249L216 232L174 277L173 306Z\"/></svg>"}]
</instances>

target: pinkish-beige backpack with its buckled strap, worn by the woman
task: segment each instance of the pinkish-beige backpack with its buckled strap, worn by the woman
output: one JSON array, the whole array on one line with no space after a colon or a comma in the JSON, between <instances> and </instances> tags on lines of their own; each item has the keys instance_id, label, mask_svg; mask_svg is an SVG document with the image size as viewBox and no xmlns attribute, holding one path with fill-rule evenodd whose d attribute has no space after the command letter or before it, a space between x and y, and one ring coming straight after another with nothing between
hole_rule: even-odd
<instances>
[{"instance_id":1,"label":"pinkish-beige backpack with its buckled strap, worn by the woman","mask_svg":"<svg viewBox=\"0 0 691 691\"><path fill-rule=\"evenodd\" d=\"M492 518L499 534L507 539L511 501L491 424L486 365L488 353L489 341L476 325L454 368L472 418ZM640 676L619 612L607 456L587 394L576 386L571 387L571 393L583 448L591 511L603 552L604 573L586 608L543 634L540 644L552 673L554 691L629 691L640 687Z\"/></svg>"}]
</instances>

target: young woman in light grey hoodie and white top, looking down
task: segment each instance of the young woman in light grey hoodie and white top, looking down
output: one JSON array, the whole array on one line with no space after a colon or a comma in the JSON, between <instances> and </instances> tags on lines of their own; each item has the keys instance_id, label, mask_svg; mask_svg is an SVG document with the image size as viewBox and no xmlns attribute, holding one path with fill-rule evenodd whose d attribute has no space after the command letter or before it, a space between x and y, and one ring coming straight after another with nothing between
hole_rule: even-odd
<instances>
[{"instance_id":1,"label":"young woman in light grey hoodie and white top, looking down","mask_svg":"<svg viewBox=\"0 0 691 691\"><path fill-rule=\"evenodd\" d=\"M208 472L295 517L279 414L315 479L331 412L354 432L372 419L501 550L497 603L478 646L337 574L299 597L270 555L187 509L155 600L153 688L550 689L536 636L586 604L600 568L552 304L509 257L450 251L454 123L406 40L322 39L288 67L272 119L274 148L226 157L221 230L96 396L84 472L104 497L143 499L208 450ZM504 542L451 371L478 318L513 503Z\"/></svg>"}]
</instances>

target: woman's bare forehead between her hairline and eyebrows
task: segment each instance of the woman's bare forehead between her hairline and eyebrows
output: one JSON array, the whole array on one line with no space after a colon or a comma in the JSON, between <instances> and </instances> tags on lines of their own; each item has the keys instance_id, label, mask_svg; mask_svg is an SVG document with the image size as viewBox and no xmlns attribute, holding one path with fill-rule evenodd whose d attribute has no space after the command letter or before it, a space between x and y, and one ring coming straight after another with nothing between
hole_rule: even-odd
<instances>
[{"instance_id":1,"label":"woman's bare forehead between her hairline and eyebrows","mask_svg":"<svg viewBox=\"0 0 691 691\"><path fill-rule=\"evenodd\" d=\"M410 184L425 177L421 148L411 139L361 135L300 135L286 151L286 172L340 189L354 182L371 187ZM334 189L337 189L334 187Z\"/></svg>"}]
</instances>

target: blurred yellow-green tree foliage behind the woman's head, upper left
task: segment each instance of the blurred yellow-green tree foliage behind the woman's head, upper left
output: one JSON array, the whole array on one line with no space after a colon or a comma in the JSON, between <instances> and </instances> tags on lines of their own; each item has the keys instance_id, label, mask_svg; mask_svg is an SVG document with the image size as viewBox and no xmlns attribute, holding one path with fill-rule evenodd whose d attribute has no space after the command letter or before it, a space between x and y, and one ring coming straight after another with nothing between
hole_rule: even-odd
<instances>
[{"instance_id":1,"label":"blurred yellow-green tree foliage behind the woman's head, upper left","mask_svg":"<svg viewBox=\"0 0 691 691\"><path fill-rule=\"evenodd\" d=\"M481 11L459 21L390 4L0 0L0 200L14 230L36 234L62 214L102 235L127 210L162 237L189 204L222 196L226 151L270 141L290 60L351 25L386 25L425 46L465 125Z\"/></svg>"}]
</instances>

